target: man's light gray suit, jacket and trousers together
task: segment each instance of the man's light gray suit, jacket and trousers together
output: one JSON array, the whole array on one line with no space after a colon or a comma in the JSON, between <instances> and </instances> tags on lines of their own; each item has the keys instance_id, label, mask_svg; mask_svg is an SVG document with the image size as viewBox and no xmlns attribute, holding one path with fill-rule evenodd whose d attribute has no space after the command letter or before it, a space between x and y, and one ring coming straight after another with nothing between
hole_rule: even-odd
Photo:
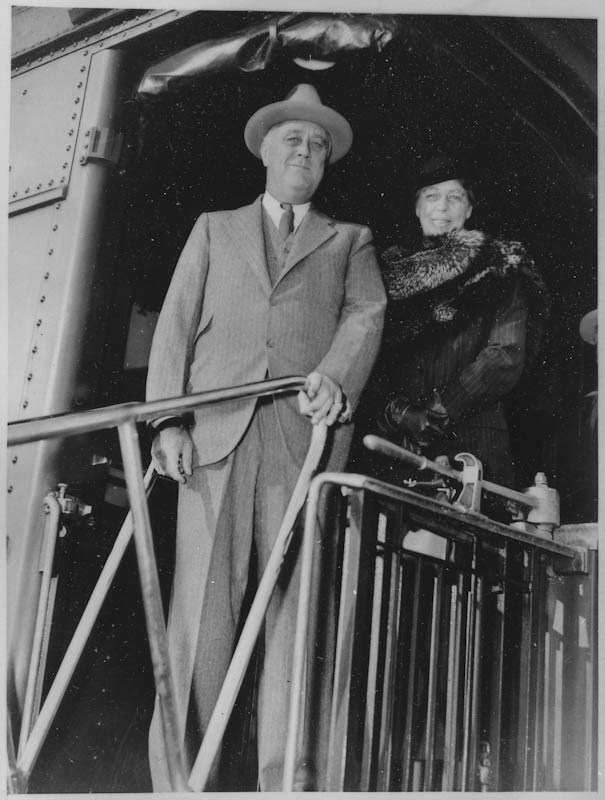
<instances>
[{"instance_id":1,"label":"man's light gray suit, jacket and trousers together","mask_svg":"<svg viewBox=\"0 0 605 800\"><path fill-rule=\"evenodd\" d=\"M384 308L368 228L337 222L311 207L272 285L261 198L234 211L203 214L185 245L160 314L148 399L318 371L342 386L354 408L376 358ZM262 405L254 400L215 404L195 414L191 434L196 469L179 492L169 619L183 730L188 714L191 719L193 713L201 731L207 723L233 645L252 527L264 529L254 531L262 569L310 433L295 397ZM351 436L351 425L337 426L327 467L344 468ZM255 508L248 512L242 504ZM212 592L222 592L222 600ZM287 613L274 608L285 617L279 632L272 633L273 623L267 622L264 670L272 689L265 689L265 695L272 695L273 701L269 697L268 707L261 702L259 708L262 789L277 789L281 780L281 754L271 750L285 744L282 706L295 598L293 578L288 592L278 591L275 598L275 603L288 606ZM206 640L212 643L204 651ZM267 665L270 655L277 669ZM285 686L281 694L280 682ZM280 708L271 709L272 702ZM154 788L166 790L158 733L156 720L151 731ZM268 738L272 742L263 744ZM264 766L272 777L263 781Z\"/></svg>"}]
</instances>

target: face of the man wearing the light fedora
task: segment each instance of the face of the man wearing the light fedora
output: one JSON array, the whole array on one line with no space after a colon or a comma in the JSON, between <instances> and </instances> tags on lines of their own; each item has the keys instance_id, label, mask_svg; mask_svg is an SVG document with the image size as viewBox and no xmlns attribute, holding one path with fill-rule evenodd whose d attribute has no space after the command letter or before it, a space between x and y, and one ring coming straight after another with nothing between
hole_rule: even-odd
<instances>
[{"instance_id":1,"label":"face of the man wearing the light fedora","mask_svg":"<svg viewBox=\"0 0 605 800\"><path fill-rule=\"evenodd\" d=\"M267 191L282 203L306 203L321 183L328 157L328 134L313 122L275 125L261 144Z\"/></svg>"}]
</instances>

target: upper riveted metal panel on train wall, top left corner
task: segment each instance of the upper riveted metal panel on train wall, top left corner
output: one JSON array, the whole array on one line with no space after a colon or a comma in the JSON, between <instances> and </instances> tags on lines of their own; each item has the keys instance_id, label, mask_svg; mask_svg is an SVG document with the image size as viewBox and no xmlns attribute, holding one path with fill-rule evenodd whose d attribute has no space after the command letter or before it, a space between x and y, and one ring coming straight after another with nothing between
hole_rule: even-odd
<instances>
[{"instance_id":1,"label":"upper riveted metal panel on train wall, top left corner","mask_svg":"<svg viewBox=\"0 0 605 800\"><path fill-rule=\"evenodd\" d=\"M72 53L13 77L9 212L65 196L89 67Z\"/></svg>"}]
</instances>

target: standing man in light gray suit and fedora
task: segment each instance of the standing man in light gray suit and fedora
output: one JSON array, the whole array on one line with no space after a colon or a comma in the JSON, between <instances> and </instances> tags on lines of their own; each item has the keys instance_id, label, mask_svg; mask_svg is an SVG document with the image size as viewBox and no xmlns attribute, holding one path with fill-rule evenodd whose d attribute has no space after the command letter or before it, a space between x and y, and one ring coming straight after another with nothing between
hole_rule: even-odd
<instances>
[{"instance_id":1,"label":"standing man in light gray suit and fedora","mask_svg":"<svg viewBox=\"0 0 605 800\"><path fill-rule=\"evenodd\" d=\"M262 574L310 441L309 418L331 426L324 465L344 468L346 422L374 363L386 302L369 229L310 204L326 164L351 146L349 123L301 84L259 109L244 138L266 167L265 193L194 226L154 336L148 399L283 375L307 381L298 402L216 404L195 412L189 429L176 419L156 423L154 465L181 483L168 635L189 759L233 651L252 539ZM297 577L280 581L266 618L261 790L282 785ZM156 708L152 776L166 790L158 722Z\"/></svg>"}]
</instances>

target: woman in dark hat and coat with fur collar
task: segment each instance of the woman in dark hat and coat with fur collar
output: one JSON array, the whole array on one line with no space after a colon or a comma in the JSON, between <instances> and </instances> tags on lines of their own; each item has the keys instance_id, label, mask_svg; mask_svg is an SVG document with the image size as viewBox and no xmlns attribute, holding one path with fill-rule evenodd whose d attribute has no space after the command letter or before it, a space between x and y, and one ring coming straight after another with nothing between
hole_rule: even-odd
<instances>
[{"instance_id":1,"label":"woman in dark hat and coat with fur collar","mask_svg":"<svg viewBox=\"0 0 605 800\"><path fill-rule=\"evenodd\" d=\"M427 162L416 182L420 246L383 253L377 423L429 458L471 452L486 478L512 486L504 400L535 357L546 288L519 242L465 227L475 202L467 175L447 156Z\"/></svg>"}]
</instances>

